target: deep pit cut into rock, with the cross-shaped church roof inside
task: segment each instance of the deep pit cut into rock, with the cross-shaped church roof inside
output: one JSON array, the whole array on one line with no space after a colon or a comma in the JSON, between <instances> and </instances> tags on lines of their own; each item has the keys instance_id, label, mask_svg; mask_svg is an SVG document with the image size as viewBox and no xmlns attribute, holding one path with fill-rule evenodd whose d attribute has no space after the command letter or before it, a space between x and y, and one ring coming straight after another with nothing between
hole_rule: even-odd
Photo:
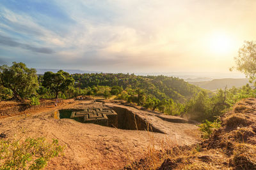
<instances>
[{"instance_id":1,"label":"deep pit cut into rock, with the cross-shaped church roof inside","mask_svg":"<svg viewBox=\"0 0 256 170\"><path fill-rule=\"evenodd\" d=\"M85 124L99 124L126 130L163 133L149 122L125 108L85 108L54 111L54 118L71 118Z\"/></svg>"}]
</instances>

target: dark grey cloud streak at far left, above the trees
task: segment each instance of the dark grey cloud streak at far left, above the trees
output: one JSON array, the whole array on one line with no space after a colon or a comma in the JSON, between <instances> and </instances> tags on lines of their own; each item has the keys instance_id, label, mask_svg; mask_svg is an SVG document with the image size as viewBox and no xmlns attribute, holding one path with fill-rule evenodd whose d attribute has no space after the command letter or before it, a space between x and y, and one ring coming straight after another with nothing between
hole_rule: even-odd
<instances>
[{"instance_id":1,"label":"dark grey cloud streak at far left, above the trees","mask_svg":"<svg viewBox=\"0 0 256 170\"><path fill-rule=\"evenodd\" d=\"M24 48L26 50L30 50L31 52L47 53L47 54L54 53L54 50L52 50L51 48L38 48L36 46L19 43L10 37L6 37L2 35L0 35L0 44L5 46Z\"/></svg>"}]
</instances>

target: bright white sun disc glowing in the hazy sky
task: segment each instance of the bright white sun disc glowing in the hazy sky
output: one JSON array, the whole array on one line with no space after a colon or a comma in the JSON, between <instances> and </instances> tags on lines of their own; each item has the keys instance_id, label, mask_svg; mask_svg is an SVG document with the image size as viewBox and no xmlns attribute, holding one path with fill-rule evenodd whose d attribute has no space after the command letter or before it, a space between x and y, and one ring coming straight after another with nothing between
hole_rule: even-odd
<instances>
[{"instance_id":1,"label":"bright white sun disc glowing in the hazy sky","mask_svg":"<svg viewBox=\"0 0 256 170\"><path fill-rule=\"evenodd\" d=\"M213 34L209 38L209 48L213 53L225 55L232 51L232 39L225 34Z\"/></svg>"}]
</instances>

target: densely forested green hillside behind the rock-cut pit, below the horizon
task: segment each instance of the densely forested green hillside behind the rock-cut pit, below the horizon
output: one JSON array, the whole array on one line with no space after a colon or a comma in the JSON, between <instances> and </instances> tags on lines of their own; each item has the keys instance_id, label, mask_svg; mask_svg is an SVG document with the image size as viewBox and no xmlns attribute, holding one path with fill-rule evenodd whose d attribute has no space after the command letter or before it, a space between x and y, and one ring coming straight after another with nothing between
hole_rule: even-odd
<instances>
[{"instance_id":1,"label":"densely forested green hillside behind the rock-cut pit, below the horizon","mask_svg":"<svg viewBox=\"0 0 256 170\"><path fill-rule=\"evenodd\" d=\"M73 74L75 87L87 89L88 95L123 99L129 103L169 115L180 115L184 104L191 99L199 87L168 76L135 76L134 74ZM108 94L108 95L107 95Z\"/></svg>"}]
</instances>

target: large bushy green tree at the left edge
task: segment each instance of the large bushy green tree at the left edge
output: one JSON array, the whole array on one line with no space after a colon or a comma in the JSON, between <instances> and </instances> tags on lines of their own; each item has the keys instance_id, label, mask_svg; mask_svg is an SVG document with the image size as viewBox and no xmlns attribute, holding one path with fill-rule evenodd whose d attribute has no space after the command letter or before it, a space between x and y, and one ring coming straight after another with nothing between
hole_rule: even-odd
<instances>
[{"instance_id":1,"label":"large bushy green tree at the left edge","mask_svg":"<svg viewBox=\"0 0 256 170\"><path fill-rule=\"evenodd\" d=\"M22 62L13 62L12 66L0 66L0 85L12 90L14 99L22 101L36 93L38 80L36 69L29 69Z\"/></svg>"}]
</instances>

